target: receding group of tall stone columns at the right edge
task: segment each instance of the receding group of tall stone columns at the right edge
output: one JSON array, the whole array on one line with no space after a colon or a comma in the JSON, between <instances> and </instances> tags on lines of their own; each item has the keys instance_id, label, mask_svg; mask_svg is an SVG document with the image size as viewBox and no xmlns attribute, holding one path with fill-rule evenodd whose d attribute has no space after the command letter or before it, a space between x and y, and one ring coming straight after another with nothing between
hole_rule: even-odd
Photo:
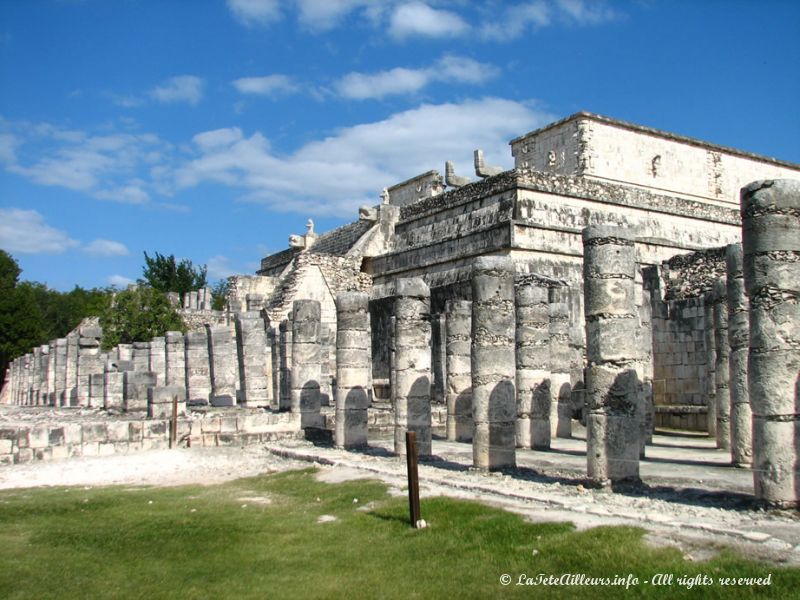
<instances>
[{"instance_id":1,"label":"receding group of tall stone columns at the right edge","mask_svg":"<svg viewBox=\"0 0 800 600\"><path fill-rule=\"evenodd\" d=\"M742 244L706 300L709 435L756 497L800 502L800 182L742 189Z\"/></svg>"}]
</instances>

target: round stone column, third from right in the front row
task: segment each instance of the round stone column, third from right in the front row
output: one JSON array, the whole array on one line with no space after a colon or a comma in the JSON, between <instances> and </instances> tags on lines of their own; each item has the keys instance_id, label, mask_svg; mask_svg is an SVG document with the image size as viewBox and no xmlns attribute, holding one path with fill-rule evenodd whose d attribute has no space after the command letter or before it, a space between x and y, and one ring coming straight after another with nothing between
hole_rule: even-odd
<instances>
[{"instance_id":1,"label":"round stone column, third from right in the front row","mask_svg":"<svg viewBox=\"0 0 800 600\"><path fill-rule=\"evenodd\" d=\"M516 464L514 261L481 257L472 267L473 464Z\"/></svg>"}]
</instances>

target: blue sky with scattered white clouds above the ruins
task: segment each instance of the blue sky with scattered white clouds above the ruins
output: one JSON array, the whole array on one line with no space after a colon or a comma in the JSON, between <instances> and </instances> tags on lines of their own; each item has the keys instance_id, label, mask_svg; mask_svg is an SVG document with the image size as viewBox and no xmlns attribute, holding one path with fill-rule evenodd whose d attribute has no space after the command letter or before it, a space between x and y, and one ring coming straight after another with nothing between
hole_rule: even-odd
<instances>
[{"instance_id":1,"label":"blue sky with scattered white clouds above the ruins","mask_svg":"<svg viewBox=\"0 0 800 600\"><path fill-rule=\"evenodd\" d=\"M252 273L429 169L587 110L800 163L800 2L0 0L0 248Z\"/></svg>"}]
</instances>

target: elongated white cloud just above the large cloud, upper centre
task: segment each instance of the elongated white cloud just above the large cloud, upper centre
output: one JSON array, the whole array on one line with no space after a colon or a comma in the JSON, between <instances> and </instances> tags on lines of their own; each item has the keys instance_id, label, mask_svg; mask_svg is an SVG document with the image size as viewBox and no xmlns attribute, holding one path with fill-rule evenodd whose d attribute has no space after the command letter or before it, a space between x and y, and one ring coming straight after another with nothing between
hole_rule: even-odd
<instances>
[{"instance_id":1,"label":"elongated white cloud just above the large cloud, upper centre","mask_svg":"<svg viewBox=\"0 0 800 600\"><path fill-rule=\"evenodd\" d=\"M397 67L377 73L348 73L336 83L336 91L345 98L362 100L397 94L413 94L435 81L480 84L500 70L463 56L446 55L424 69Z\"/></svg>"}]
</instances>

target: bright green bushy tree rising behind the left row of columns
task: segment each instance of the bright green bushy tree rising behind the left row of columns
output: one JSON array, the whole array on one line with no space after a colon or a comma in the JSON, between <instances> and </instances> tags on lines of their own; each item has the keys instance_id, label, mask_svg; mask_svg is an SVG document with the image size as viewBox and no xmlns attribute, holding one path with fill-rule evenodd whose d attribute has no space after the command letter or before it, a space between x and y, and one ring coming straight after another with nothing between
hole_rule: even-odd
<instances>
[{"instance_id":1,"label":"bright green bushy tree rising behind the left row of columns","mask_svg":"<svg viewBox=\"0 0 800 600\"><path fill-rule=\"evenodd\" d=\"M118 293L100 315L100 326L106 350L117 344L149 341L167 331L186 331L164 293L144 285Z\"/></svg>"}]
</instances>

